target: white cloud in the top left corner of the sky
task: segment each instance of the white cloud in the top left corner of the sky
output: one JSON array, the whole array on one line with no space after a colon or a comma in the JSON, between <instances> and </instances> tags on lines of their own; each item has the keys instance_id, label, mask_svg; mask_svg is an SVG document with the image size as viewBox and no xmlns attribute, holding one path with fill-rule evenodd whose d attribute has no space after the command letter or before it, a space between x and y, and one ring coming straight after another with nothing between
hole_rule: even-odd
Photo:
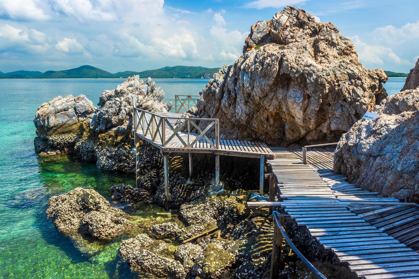
<instances>
[{"instance_id":1,"label":"white cloud in the top left corner of the sky","mask_svg":"<svg viewBox=\"0 0 419 279\"><path fill-rule=\"evenodd\" d=\"M47 15L37 0L1 0L0 15L14 20L47 20Z\"/></svg>"}]
</instances>

